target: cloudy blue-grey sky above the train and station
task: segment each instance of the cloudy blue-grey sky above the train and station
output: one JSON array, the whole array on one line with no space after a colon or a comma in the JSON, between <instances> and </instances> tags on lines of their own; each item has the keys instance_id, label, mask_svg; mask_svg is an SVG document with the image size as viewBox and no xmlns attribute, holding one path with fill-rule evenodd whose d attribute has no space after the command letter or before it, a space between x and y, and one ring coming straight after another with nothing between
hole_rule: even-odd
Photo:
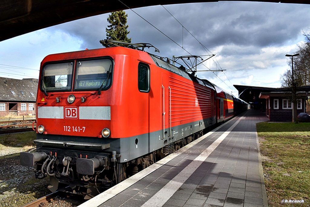
<instances>
[{"instance_id":1,"label":"cloudy blue-grey sky above the train and station","mask_svg":"<svg viewBox=\"0 0 310 207\"><path fill-rule=\"evenodd\" d=\"M144 7L126 13L132 42L156 46L160 50L156 55L206 59L203 55L215 54L198 70L226 71L198 72L197 77L237 95L232 85L281 87L280 76L289 69L285 55L294 54L304 40L303 32L310 32L309 11L310 5L300 4L211 2ZM38 78L46 55L101 48L107 17L97 15L0 42L0 77ZM152 48L147 51L155 53Z\"/></svg>"}]
</instances>

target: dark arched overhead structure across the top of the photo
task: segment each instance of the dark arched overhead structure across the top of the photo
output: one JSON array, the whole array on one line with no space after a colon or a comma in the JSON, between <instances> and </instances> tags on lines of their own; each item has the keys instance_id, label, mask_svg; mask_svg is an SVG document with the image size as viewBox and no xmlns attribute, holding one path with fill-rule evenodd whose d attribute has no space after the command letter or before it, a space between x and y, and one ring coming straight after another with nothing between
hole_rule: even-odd
<instances>
[{"instance_id":1,"label":"dark arched overhead structure across the top of the photo","mask_svg":"<svg viewBox=\"0 0 310 207\"><path fill-rule=\"evenodd\" d=\"M226 0L230 1L230 0ZM2 0L0 4L0 41L56 24L89 16L154 5L194 2L218 2L215 0ZM310 0L260 0L257 2L310 4Z\"/></svg>"}]
</instances>

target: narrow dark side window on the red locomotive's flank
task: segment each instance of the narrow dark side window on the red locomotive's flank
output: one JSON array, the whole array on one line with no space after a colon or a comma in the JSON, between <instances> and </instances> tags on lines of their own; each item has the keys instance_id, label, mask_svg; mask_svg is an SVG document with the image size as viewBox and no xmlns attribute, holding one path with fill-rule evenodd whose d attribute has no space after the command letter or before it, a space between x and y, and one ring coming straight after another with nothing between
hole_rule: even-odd
<instances>
[{"instance_id":1,"label":"narrow dark side window on the red locomotive's flank","mask_svg":"<svg viewBox=\"0 0 310 207\"><path fill-rule=\"evenodd\" d=\"M150 91L150 68L143 63L138 65L138 89L146 93Z\"/></svg>"}]
</instances>

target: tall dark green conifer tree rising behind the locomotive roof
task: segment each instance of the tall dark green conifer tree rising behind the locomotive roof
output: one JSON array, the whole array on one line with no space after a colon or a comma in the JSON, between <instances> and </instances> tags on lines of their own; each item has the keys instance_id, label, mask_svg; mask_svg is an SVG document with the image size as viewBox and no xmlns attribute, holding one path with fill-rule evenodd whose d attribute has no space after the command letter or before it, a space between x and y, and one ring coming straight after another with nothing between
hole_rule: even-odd
<instances>
[{"instance_id":1,"label":"tall dark green conifer tree rising behind the locomotive roof","mask_svg":"<svg viewBox=\"0 0 310 207\"><path fill-rule=\"evenodd\" d=\"M127 35L128 31L127 14L124 10L114 11L108 16L108 28L105 29L108 40L116 40L120 42L131 42L131 38ZM101 42L101 41L100 41Z\"/></svg>"}]
</instances>

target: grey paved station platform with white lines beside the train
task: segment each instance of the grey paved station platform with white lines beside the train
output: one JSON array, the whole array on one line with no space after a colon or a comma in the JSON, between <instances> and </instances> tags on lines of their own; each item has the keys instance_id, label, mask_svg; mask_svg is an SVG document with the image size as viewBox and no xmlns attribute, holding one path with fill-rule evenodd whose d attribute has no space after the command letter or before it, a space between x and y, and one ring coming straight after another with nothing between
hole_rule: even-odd
<instances>
[{"instance_id":1,"label":"grey paved station platform with white lines beside the train","mask_svg":"<svg viewBox=\"0 0 310 207\"><path fill-rule=\"evenodd\" d=\"M79 207L268 206L248 110Z\"/></svg>"}]
</instances>

